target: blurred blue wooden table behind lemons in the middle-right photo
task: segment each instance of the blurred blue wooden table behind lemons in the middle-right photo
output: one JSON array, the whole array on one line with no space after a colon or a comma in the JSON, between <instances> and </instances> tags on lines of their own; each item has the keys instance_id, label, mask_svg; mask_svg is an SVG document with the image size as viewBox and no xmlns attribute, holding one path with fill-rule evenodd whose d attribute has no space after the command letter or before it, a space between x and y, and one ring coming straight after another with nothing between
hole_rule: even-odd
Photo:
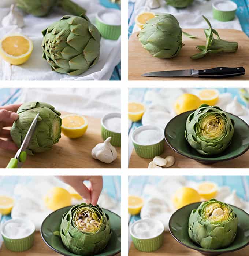
<instances>
[{"instance_id":1,"label":"blurred blue wooden table behind lemons in the middle-right photo","mask_svg":"<svg viewBox=\"0 0 249 256\"><path fill-rule=\"evenodd\" d=\"M245 102L242 101L241 97L239 96L238 88L216 88L216 89L220 93L231 93L233 97L237 96L239 103L241 103L245 106ZM161 89L160 88L153 88L153 89L151 89L151 88L130 88L129 89L129 101L137 101L137 102L142 102L145 105L149 105L150 101L145 101L145 99L144 99L145 93L148 90L160 91ZM142 125L141 121L131 123L131 125L129 126L128 132L130 133L133 129L135 129L141 125Z\"/></svg>"}]
</instances>

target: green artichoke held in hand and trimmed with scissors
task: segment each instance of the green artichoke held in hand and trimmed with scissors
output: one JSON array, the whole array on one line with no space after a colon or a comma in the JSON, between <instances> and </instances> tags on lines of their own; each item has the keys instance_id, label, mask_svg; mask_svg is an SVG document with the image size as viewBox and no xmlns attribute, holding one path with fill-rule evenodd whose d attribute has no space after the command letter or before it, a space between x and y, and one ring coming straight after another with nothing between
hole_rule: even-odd
<instances>
[{"instance_id":1,"label":"green artichoke held in hand and trimmed with scissors","mask_svg":"<svg viewBox=\"0 0 249 256\"><path fill-rule=\"evenodd\" d=\"M39 113L36 130L26 149L27 154L34 155L51 149L60 139L62 120L60 112L47 103L30 102L19 107L19 119L14 122L10 134L18 148L29 130L31 123Z\"/></svg>"}]
</instances>

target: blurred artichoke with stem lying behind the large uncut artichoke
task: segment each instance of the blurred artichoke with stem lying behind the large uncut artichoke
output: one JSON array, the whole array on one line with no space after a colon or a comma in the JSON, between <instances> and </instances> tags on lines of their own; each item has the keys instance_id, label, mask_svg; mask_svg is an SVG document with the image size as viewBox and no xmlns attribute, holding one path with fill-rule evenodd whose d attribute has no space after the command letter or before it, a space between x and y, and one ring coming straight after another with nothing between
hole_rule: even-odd
<instances>
[{"instance_id":1,"label":"blurred artichoke with stem lying behind the large uncut artichoke","mask_svg":"<svg viewBox=\"0 0 249 256\"><path fill-rule=\"evenodd\" d=\"M47 16L55 6L72 15L85 14L86 10L70 0L16 0L17 7L34 16Z\"/></svg>"}]
</instances>

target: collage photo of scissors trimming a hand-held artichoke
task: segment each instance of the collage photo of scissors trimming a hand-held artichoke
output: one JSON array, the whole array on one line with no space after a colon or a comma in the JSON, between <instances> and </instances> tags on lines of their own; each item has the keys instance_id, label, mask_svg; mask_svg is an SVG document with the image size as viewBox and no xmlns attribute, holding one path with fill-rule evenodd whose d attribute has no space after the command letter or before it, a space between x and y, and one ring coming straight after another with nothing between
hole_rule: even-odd
<instances>
[{"instance_id":1,"label":"collage photo of scissors trimming a hand-held artichoke","mask_svg":"<svg viewBox=\"0 0 249 256\"><path fill-rule=\"evenodd\" d=\"M119 88L0 88L0 168L121 168Z\"/></svg>"}]
</instances>

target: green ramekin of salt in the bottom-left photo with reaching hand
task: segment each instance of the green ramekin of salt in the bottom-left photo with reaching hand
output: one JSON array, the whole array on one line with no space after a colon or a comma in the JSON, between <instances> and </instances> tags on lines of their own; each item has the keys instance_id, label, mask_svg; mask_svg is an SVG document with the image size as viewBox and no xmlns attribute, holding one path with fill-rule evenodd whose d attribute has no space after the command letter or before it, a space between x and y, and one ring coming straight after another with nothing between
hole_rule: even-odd
<instances>
[{"instance_id":1,"label":"green ramekin of salt in the bottom-left photo with reaching hand","mask_svg":"<svg viewBox=\"0 0 249 256\"><path fill-rule=\"evenodd\" d=\"M4 230L5 225L7 223L15 222L15 221L25 222L28 225L32 226L34 229L33 233L27 237L23 237L20 239L12 239L12 238L9 238L6 235L4 235L3 230ZM18 219L18 218L6 221L1 227L1 235L3 237L5 247L12 252L24 252L26 250L29 250L34 245L35 232L36 232L36 228L31 221Z\"/></svg>"}]
</instances>

